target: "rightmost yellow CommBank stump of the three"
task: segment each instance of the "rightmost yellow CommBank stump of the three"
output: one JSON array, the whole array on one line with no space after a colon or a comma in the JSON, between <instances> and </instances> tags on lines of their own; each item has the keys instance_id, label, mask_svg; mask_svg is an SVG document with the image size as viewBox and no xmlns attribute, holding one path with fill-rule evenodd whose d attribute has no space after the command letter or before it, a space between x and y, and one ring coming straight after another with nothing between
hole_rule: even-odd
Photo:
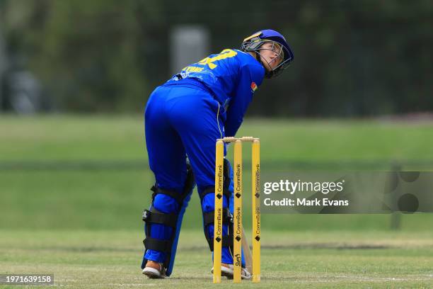
<instances>
[{"instance_id":1,"label":"rightmost yellow CommBank stump of the three","mask_svg":"<svg viewBox=\"0 0 433 289\"><path fill-rule=\"evenodd\" d=\"M253 282L260 282L260 141L252 147L253 183Z\"/></svg>"}]
</instances>

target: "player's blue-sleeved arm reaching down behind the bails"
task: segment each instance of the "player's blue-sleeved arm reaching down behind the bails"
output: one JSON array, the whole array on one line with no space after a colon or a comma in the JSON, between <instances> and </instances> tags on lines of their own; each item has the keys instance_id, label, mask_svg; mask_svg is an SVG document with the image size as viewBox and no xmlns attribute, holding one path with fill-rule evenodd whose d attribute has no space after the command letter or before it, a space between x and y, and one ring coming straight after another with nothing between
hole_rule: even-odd
<instances>
[{"instance_id":1,"label":"player's blue-sleeved arm reaching down behind the bails","mask_svg":"<svg viewBox=\"0 0 433 289\"><path fill-rule=\"evenodd\" d=\"M226 137L234 137L241 126L248 105L253 100L253 86L262 83L265 70L262 67L244 65L238 78L238 85L233 93L225 123Z\"/></svg>"}]
</instances>

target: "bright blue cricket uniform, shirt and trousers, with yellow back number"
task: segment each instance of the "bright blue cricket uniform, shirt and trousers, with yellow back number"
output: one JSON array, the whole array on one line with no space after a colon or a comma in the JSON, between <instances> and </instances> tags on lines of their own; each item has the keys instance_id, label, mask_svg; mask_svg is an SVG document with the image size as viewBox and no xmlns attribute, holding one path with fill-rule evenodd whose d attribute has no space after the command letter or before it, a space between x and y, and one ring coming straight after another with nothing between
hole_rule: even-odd
<instances>
[{"instance_id":1,"label":"bright blue cricket uniform, shirt and trousers, with yellow back number","mask_svg":"<svg viewBox=\"0 0 433 289\"><path fill-rule=\"evenodd\" d=\"M214 186L215 142L236 135L264 77L265 69L252 55L223 50L190 64L152 92L144 125L149 164L158 188L183 191L187 175L185 155L190 160L199 193ZM223 198L223 207L229 207L233 213L232 181L229 191L232 197ZM180 209L173 198L164 194L155 196L154 208L165 213ZM204 196L202 210L214 210L214 193ZM213 225L204 229L213 238ZM172 231L165 225L152 225L150 234L167 240ZM223 234L228 234L227 225L223 226ZM149 249L144 258L162 263L166 256ZM223 247L222 262L233 263L228 247Z\"/></svg>"}]
</instances>

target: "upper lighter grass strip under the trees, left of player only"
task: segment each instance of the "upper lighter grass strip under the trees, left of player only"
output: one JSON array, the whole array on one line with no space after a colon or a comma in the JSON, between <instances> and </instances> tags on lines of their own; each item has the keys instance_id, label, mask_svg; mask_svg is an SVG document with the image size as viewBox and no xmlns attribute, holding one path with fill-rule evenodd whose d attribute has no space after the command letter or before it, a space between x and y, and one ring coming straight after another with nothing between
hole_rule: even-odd
<instances>
[{"instance_id":1,"label":"upper lighter grass strip under the trees, left of player only","mask_svg":"<svg viewBox=\"0 0 433 289\"><path fill-rule=\"evenodd\" d=\"M1 160L146 159L137 117L2 116Z\"/></svg>"}]
</instances>

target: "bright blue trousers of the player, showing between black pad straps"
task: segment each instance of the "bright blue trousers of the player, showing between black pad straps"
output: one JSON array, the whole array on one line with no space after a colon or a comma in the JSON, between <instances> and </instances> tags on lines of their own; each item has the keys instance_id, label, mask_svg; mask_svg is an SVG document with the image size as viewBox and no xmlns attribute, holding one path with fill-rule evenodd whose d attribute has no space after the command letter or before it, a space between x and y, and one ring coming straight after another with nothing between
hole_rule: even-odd
<instances>
[{"instance_id":1,"label":"bright blue trousers of the player, showing between black pad straps","mask_svg":"<svg viewBox=\"0 0 433 289\"><path fill-rule=\"evenodd\" d=\"M165 84L158 86L146 105L144 125L149 164L159 188L181 193L186 179L186 156L190 160L197 189L214 186L215 142L224 137L224 124L219 116L220 105L209 91L192 84ZM224 148L224 154L226 149ZM231 178L233 179L233 177ZM223 207L229 206L233 214L232 197L224 197ZM161 212L178 212L178 203L163 194L157 194L154 208ZM202 211L214 210L214 193L202 200ZM214 236L214 226L204 227ZM151 237L170 239L173 230L164 225L151 225ZM223 235L228 225L223 226ZM147 250L145 259L163 262L166 254ZM233 263L229 247L223 247L221 261Z\"/></svg>"}]
</instances>

